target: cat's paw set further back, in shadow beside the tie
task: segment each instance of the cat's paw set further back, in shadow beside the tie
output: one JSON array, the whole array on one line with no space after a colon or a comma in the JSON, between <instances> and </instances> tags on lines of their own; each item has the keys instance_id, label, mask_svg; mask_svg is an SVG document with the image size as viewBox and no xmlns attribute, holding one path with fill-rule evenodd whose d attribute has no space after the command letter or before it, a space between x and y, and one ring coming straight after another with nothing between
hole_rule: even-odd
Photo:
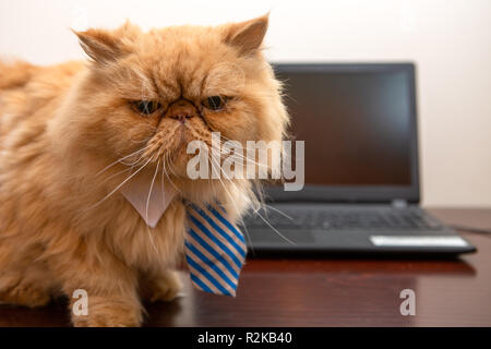
<instances>
[{"instance_id":1,"label":"cat's paw set further back, in shadow beside the tie","mask_svg":"<svg viewBox=\"0 0 491 349\"><path fill-rule=\"evenodd\" d=\"M172 301L180 296L182 282L177 272L166 270L158 278L147 280L143 298L151 301Z\"/></svg>"}]
</instances>

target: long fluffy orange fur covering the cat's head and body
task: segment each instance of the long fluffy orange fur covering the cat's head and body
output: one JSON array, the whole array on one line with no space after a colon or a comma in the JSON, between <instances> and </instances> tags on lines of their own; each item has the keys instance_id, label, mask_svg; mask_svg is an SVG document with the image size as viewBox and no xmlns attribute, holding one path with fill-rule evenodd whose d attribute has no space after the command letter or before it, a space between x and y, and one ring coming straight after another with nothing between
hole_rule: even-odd
<instances>
[{"instance_id":1,"label":"long fluffy orange fur covering the cat's head and body","mask_svg":"<svg viewBox=\"0 0 491 349\"><path fill-rule=\"evenodd\" d=\"M176 297L182 198L217 200L236 219L253 201L249 181L188 179L187 143L284 135L266 28L267 16L147 33L127 23L75 33L89 62L0 63L0 301L38 306L85 289L75 326L139 326L142 299ZM209 96L225 106L205 108ZM160 108L141 115L137 100ZM194 106L185 123L168 113L179 100ZM180 192L152 230L119 191L108 195L145 163Z\"/></svg>"}]
</instances>

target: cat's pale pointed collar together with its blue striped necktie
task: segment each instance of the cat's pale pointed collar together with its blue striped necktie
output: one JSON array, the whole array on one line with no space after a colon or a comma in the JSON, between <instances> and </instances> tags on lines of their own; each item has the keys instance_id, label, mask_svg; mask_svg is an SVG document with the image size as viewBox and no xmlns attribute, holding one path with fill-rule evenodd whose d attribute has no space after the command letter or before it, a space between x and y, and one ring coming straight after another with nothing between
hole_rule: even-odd
<instances>
[{"instance_id":1,"label":"cat's pale pointed collar together with its blue striped necktie","mask_svg":"<svg viewBox=\"0 0 491 349\"><path fill-rule=\"evenodd\" d=\"M141 172L121 188L146 225L155 228L177 191L152 172ZM203 291L236 296L246 242L219 205L199 207L184 201L188 212L185 258L192 284Z\"/></svg>"}]
</instances>

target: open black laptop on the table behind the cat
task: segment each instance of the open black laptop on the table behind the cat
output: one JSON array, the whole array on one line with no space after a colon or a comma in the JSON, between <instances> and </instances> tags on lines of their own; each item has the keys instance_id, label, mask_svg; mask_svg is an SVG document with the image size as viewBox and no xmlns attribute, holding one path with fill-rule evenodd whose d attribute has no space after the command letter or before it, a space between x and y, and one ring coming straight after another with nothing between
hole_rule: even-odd
<instances>
[{"instance_id":1,"label":"open black laptop on the table behind the cat","mask_svg":"<svg viewBox=\"0 0 491 349\"><path fill-rule=\"evenodd\" d=\"M274 64L290 134L304 141L304 186L266 188L244 218L251 256L474 252L419 206L415 65Z\"/></svg>"}]
</instances>

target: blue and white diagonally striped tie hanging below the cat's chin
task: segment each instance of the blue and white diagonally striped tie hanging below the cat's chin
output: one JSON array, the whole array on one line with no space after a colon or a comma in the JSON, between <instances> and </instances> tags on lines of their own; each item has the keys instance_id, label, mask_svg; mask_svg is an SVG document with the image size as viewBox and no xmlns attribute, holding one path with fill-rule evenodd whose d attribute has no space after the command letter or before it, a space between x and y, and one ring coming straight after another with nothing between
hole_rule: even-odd
<instances>
[{"instance_id":1,"label":"blue and white diagonally striped tie hanging below the cat's chin","mask_svg":"<svg viewBox=\"0 0 491 349\"><path fill-rule=\"evenodd\" d=\"M247 248L243 234L220 206L188 204L185 258L200 290L236 296Z\"/></svg>"}]
</instances>

